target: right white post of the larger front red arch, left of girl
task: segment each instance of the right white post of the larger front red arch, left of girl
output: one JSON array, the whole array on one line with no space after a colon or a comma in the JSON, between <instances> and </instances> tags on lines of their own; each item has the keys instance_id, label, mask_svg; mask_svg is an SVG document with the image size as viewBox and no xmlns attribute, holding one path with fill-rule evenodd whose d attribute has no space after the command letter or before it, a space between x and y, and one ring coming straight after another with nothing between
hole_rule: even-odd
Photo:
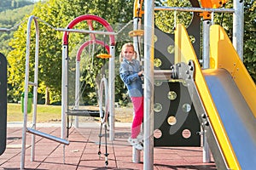
<instances>
[{"instance_id":1,"label":"right white post of the larger front red arch, left of girl","mask_svg":"<svg viewBox=\"0 0 256 170\"><path fill-rule=\"evenodd\" d=\"M114 58L115 58L115 47L114 45L110 46L110 55L111 58L109 59L109 72L108 72L108 77L109 77L109 122L110 122L110 130L109 130L109 139L114 140Z\"/></svg>"}]
</instances>

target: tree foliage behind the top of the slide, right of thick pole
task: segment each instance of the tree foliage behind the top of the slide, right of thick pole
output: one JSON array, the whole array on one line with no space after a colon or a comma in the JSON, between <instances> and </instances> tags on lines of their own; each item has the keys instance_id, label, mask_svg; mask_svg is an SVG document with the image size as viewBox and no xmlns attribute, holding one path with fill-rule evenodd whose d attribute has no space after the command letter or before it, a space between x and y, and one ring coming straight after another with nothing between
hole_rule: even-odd
<instances>
[{"instance_id":1,"label":"tree foliage behind the top of the slide, right of thick pole","mask_svg":"<svg viewBox=\"0 0 256 170\"><path fill-rule=\"evenodd\" d=\"M164 1L158 5L175 6L175 7L188 7L189 0L187 1ZM233 8L233 2L228 1L224 4L224 8ZM253 0L245 0L244 3L244 65L247 67L247 71L253 77L253 81L256 82L256 2ZM160 27L160 30L173 33L172 28L174 23L173 11L159 11L155 14L155 24ZM189 25L189 19L191 16L188 13L177 12L177 23L183 23L185 26ZM233 15L227 13L214 14L214 24L218 24L224 27L230 40L232 40L233 34Z\"/></svg>"}]
</instances>

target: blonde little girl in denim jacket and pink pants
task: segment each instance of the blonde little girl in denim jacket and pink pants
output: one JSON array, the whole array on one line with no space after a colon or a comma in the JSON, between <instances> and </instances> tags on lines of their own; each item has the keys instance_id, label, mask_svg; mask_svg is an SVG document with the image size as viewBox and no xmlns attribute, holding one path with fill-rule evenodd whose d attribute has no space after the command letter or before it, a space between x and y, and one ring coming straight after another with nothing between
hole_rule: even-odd
<instances>
[{"instance_id":1,"label":"blonde little girl in denim jacket and pink pants","mask_svg":"<svg viewBox=\"0 0 256 170\"><path fill-rule=\"evenodd\" d=\"M136 59L132 43L125 43L119 55L121 62L119 74L128 89L129 96L134 109L131 125L131 137L128 142L137 150L143 150L143 136L140 134L143 122L143 71L140 71L140 62Z\"/></svg>"}]
</instances>

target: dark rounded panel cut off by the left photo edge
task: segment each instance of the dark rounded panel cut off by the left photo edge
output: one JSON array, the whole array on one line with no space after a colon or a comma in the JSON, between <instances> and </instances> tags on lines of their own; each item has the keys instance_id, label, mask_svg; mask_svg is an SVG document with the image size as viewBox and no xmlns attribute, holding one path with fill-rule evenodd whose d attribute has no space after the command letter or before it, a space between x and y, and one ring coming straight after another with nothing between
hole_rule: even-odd
<instances>
[{"instance_id":1,"label":"dark rounded panel cut off by the left photo edge","mask_svg":"<svg viewBox=\"0 0 256 170\"><path fill-rule=\"evenodd\" d=\"M6 148L7 122L7 60L0 53L0 156Z\"/></svg>"}]
</instances>

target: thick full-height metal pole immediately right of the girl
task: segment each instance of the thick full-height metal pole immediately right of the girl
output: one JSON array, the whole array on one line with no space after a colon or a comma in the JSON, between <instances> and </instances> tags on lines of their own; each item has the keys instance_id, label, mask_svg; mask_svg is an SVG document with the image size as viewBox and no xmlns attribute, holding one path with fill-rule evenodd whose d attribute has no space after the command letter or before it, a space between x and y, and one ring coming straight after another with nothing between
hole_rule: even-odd
<instances>
[{"instance_id":1,"label":"thick full-height metal pole immediately right of the girl","mask_svg":"<svg viewBox=\"0 0 256 170\"><path fill-rule=\"evenodd\" d=\"M154 0L145 1L143 169L154 169Z\"/></svg>"}]
</instances>

